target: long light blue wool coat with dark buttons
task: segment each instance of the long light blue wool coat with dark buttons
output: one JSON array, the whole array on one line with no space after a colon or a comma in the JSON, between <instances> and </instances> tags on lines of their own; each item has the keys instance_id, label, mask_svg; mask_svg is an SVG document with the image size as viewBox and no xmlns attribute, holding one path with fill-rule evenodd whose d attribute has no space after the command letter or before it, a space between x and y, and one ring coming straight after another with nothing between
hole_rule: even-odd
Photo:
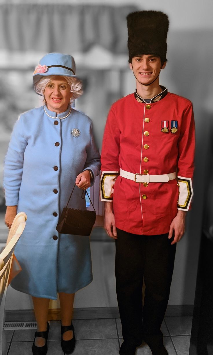
<instances>
[{"instance_id":1,"label":"long light blue wool coat with dark buttons","mask_svg":"<svg viewBox=\"0 0 213 355\"><path fill-rule=\"evenodd\" d=\"M100 154L89 117L72 109L68 118L60 119L70 107L58 115L45 109L55 118L39 107L16 122L5 160L4 187L6 206L17 204L17 212L27 214L15 249L22 271L11 286L35 297L56 299L57 292L74 293L92 281L89 237L59 234L55 227L76 176L87 168L98 175ZM71 133L73 129L80 131L79 137ZM69 207L86 208L81 194L75 187Z\"/></svg>"}]
</instances>

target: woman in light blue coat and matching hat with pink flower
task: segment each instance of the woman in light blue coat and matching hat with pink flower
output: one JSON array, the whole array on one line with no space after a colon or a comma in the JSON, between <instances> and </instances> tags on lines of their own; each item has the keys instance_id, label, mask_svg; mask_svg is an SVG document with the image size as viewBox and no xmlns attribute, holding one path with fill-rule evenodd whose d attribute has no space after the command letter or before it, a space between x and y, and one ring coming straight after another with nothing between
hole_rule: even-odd
<instances>
[{"instance_id":1,"label":"woman in light blue coat and matching hat with pink flower","mask_svg":"<svg viewBox=\"0 0 213 355\"><path fill-rule=\"evenodd\" d=\"M92 281L89 237L59 234L58 217L76 184L69 207L85 209L82 189L94 183L100 155L92 121L70 106L82 93L72 56L45 55L33 75L45 105L20 115L5 160L5 223L27 214L26 228L15 255L22 271L11 286L33 297L38 329L33 354L47 353L49 299L59 293L62 350L75 346L71 323L74 294Z\"/></svg>"}]
</instances>

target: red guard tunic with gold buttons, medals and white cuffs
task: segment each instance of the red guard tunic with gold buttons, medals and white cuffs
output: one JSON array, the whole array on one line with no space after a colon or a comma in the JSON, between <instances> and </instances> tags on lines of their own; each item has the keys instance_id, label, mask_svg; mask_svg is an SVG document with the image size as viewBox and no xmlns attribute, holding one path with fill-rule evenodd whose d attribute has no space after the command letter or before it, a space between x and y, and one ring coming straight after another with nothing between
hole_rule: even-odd
<instances>
[{"instance_id":1,"label":"red guard tunic with gold buttons, medals and white cuffs","mask_svg":"<svg viewBox=\"0 0 213 355\"><path fill-rule=\"evenodd\" d=\"M114 103L103 136L101 200L113 200L116 227L144 235L169 232L177 209L190 207L194 151L189 100L165 89L150 104L134 94ZM150 175L177 171L179 184L175 179L137 183L121 177L120 169Z\"/></svg>"}]
</instances>

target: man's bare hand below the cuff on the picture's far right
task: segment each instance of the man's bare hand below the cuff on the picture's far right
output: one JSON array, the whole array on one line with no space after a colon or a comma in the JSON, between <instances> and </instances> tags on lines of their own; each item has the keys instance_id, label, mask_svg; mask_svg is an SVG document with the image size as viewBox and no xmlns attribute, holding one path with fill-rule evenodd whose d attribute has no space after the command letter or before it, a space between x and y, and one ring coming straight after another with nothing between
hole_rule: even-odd
<instances>
[{"instance_id":1,"label":"man's bare hand below the cuff on the picture's far right","mask_svg":"<svg viewBox=\"0 0 213 355\"><path fill-rule=\"evenodd\" d=\"M172 220L169 229L169 239L172 238L173 231L175 232L174 240L171 244L175 244L179 242L185 233L185 219L186 219L186 211L178 210L176 217Z\"/></svg>"}]
</instances>

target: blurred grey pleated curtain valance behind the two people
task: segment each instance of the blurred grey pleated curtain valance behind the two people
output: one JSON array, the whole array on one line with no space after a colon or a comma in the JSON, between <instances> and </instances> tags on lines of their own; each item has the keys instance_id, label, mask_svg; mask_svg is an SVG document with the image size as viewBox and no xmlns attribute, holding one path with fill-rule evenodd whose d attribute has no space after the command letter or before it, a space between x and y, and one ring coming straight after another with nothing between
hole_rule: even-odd
<instances>
[{"instance_id":1,"label":"blurred grey pleated curtain valance behind the two people","mask_svg":"<svg viewBox=\"0 0 213 355\"><path fill-rule=\"evenodd\" d=\"M94 44L127 53L126 16L135 6L1 4L0 50L85 52Z\"/></svg>"}]
</instances>

